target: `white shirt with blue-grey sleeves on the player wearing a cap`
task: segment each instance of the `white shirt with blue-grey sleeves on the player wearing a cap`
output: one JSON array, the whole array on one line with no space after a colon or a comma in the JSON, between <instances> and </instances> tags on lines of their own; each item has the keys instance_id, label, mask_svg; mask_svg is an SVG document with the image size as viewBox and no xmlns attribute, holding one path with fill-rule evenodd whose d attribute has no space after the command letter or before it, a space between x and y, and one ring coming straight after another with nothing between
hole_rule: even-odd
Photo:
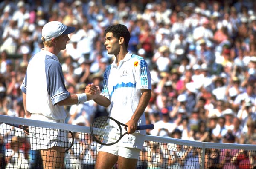
<instances>
[{"instance_id":1,"label":"white shirt with blue-grey sleeves on the player wearing a cap","mask_svg":"<svg viewBox=\"0 0 256 169\"><path fill-rule=\"evenodd\" d=\"M29 60L20 89L26 94L26 107L30 113L55 120L66 118L64 106L57 103L69 97L70 93L64 84L61 64L54 54L41 49Z\"/></svg>"}]
</instances>

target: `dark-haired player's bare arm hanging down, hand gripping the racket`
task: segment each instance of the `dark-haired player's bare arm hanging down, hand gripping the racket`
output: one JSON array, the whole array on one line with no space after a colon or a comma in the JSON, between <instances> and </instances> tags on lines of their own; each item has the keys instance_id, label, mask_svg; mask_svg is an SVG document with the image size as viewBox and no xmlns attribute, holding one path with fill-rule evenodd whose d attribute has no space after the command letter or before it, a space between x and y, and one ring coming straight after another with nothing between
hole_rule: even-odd
<instances>
[{"instance_id":1,"label":"dark-haired player's bare arm hanging down, hand gripping the racket","mask_svg":"<svg viewBox=\"0 0 256 169\"><path fill-rule=\"evenodd\" d=\"M128 126L128 134L132 134L136 131L138 120L141 115L145 111L146 106L151 98L151 90L150 89L141 89L142 95L140 97L139 104L132 115L131 119L126 123Z\"/></svg>"}]
</instances>

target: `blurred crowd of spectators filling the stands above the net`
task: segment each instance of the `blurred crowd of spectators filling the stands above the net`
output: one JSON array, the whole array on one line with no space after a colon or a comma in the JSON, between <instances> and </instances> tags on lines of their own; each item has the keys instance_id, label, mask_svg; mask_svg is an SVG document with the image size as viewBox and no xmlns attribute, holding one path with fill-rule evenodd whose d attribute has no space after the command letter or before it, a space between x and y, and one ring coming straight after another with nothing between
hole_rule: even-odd
<instances>
[{"instance_id":1,"label":"blurred crowd of spectators filling the stands above the net","mask_svg":"<svg viewBox=\"0 0 256 169\"><path fill-rule=\"evenodd\" d=\"M129 50L147 61L152 97L148 134L255 144L256 9L253 0L3 0L0 2L0 114L23 117L20 84L42 47L41 29L58 20L76 27L58 55L69 92L102 86L113 56L104 29L121 23ZM67 123L89 126L108 109L92 101L67 106Z\"/></svg>"}]
</instances>

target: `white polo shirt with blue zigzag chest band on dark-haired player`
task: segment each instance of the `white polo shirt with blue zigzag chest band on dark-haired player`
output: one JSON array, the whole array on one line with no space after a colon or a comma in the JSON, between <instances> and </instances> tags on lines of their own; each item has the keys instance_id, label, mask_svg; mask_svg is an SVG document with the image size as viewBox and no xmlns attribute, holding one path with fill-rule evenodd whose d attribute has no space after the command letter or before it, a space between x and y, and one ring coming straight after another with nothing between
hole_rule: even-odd
<instances>
[{"instance_id":1,"label":"white polo shirt with blue zigzag chest band on dark-haired player","mask_svg":"<svg viewBox=\"0 0 256 169\"><path fill-rule=\"evenodd\" d=\"M121 123L127 123L138 106L142 95L140 89L151 90L150 71L143 57L128 52L118 66L115 59L104 73L101 93L111 100L110 116ZM140 117L138 125L145 125L144 113ZM145 130L136 132L145 134ZM131 135L125 135L120 142L122 145L126 144L127 147L137 147L128 140L135 140L135 138L131 139Z\"/></svg>"}]
</instances>

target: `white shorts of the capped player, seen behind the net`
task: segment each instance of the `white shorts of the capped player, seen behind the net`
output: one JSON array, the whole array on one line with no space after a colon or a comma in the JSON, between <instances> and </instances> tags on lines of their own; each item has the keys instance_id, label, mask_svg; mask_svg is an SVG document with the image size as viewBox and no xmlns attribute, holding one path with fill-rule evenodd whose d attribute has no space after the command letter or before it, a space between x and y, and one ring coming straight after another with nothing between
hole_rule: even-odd
<instances>
[{"instance_id":1,"label":"white shorts of the capped player, seen behind the net","mask_svg":"<svg viewBox=\"0 0 256 169\"><path fill-rule=\"evenodd\" d=\"M64 120L55 120L43 115L32 114L30 119L55 123L64 123ZM29 126L29 140L31 149L49 149L53 146L68 147L68 132L59 129Z\"/></svg>"}]
</instances>

